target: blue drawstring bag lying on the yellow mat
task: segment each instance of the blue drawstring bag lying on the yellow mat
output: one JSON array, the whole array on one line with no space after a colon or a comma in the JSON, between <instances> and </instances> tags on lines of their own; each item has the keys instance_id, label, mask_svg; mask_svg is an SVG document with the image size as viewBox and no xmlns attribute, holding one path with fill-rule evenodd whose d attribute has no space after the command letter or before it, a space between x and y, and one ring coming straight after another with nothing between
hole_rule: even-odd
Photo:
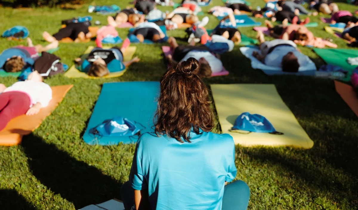
<instances>
[{"instance_id":1,"label":"blue drawstring bag lying on the yellow mat","mask_svg":"<svg viewBox=\"0 0 358 210\"><path fill-rule=\"evenodd\" d=\"M272 124L260 114L250 114L244 112L240 114L235 120L234 126L230 131L246 131L247 133L271 133L282 135L283 133L277 132Z\"/></svg>"}]
</instances>

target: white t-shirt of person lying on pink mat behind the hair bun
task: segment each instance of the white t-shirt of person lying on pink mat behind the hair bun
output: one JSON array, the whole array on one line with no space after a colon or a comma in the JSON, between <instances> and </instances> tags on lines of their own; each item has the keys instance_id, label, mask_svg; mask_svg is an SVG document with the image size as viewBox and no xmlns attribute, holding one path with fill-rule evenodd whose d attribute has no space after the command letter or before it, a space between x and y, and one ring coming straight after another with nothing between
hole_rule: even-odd
<instances>
[{"instance_id":1,"label":"white t-shirt of person lying on pink mat behind the hair bun","mask_svg":"<svg viewBox=\"0 0 358 210\"><path fill-rule=\"evenodd\" d=\"M221 63L221 60L219 60L209 51L192 50L187 55L185 55L182 61L187 60L188 58L195 58L197 60L199 60L200 58L205 58L205 60L207 60L210 65L212 73L221 72L223 69L223 64Z\"/></svg>"}]
</instances>

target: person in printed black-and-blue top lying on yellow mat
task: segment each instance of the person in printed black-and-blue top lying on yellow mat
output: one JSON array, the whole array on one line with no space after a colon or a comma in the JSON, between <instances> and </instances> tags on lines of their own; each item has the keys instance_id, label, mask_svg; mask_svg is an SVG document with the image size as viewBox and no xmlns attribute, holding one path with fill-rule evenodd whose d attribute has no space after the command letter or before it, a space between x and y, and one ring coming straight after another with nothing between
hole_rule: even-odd
<instances>
[{"instance_id":1,"label":"person in printed black-and-blue top lying on yellow mat","mask_svg":"<svg viewBox=\"0 0 358 210\"><path fill-rule=\"evenodd\" d=\"M81 72L86 72L92 77L103 77L111 72L120 72L132 63L139 62L140 60L138 57L135 57L130 61L123 61L123 54L129 44L129 40L126 39L121 48L95 48L85 59L76 58L75 63Z\"/></svg>"}]
</instances>

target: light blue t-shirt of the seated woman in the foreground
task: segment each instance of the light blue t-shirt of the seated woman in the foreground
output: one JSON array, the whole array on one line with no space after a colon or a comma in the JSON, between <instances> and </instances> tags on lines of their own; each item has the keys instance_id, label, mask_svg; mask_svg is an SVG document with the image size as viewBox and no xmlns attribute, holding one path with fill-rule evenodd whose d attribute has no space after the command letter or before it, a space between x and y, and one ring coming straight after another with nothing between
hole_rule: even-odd
<instances>
[{"instance_id":1,"label":"light blue t-shirt of the seated woman in the foreground","mask_svg":"<svg viewBox=\"0 0 358 210\"><path fill-rule=\"evenodd\" d=\"M228 134L191 132L191 143L144 133L129 181L148 190L151 209L220 210L224 182L236 176L235 145Z\"/></svg>"}]
</instances>

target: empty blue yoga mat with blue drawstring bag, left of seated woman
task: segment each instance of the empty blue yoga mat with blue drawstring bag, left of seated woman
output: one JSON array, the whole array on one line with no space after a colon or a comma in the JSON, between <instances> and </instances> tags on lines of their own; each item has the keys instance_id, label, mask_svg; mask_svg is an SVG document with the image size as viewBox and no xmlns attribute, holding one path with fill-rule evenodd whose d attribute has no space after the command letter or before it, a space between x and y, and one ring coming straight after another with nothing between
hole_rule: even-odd
<instances>
[{"instance_id":1,"label":"empty blue yoga mat with blue drawstring bag, left of seated woman","mask_svg":"<svg viewBox=\"0 0 358 210\"><path fill-rule=\"evenodd\" d=\"M154 112L157 108L159 82L113 82L104 83L98 97L86 132L84 142L89 145L117 145L135 143L138 136L132 137L98 137L89 131L106 119L122 116L146 127L140 133L152 131Z\"/></svg>"}]
</instances>

